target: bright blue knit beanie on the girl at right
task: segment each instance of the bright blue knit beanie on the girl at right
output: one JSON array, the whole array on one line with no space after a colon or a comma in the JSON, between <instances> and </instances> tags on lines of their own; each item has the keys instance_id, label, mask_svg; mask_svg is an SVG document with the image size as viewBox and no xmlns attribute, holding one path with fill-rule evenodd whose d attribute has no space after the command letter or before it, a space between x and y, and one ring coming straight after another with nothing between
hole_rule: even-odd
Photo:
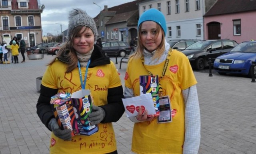
<instances>
[{"instance_id":1,"label":"bright blue knit beanie on the girl at right","mask_svg":"<svg viewBox=\"0 0 256 154\"><path fill-rule=\"evenodd\" d=\"M145 21L153 21L156 22L158 25L160 25L162 27L162 29L164 30L164 36L166 36L166 21L165 21L165 17L164 14L162 14L162 12L156 10L155 8L151 8L149 10L146 10L139 19L138 22L138 29L140 27L140 24L142 24L142 22Z\"/></svg>"}]
</instances>

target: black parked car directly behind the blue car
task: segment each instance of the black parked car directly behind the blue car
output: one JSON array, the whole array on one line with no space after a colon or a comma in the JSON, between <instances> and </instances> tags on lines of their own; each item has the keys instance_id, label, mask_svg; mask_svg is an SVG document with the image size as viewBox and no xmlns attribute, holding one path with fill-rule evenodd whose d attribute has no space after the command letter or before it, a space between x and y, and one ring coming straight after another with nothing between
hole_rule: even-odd
<instances>
[{"instance_id":1,"label":"black parked car directly behind the blue car","mask_svg":"<svg viewBox=\"0 0 256 154\"><path fill-rule=\"evenodd\" d=\"M238 43L230 39L214 39L198 41L182 51L189 61L190 65L197 70L202 70L208 65L208 59L212 59L212 63L219 55L227 53Z\"/></svg>"}]
</instances>

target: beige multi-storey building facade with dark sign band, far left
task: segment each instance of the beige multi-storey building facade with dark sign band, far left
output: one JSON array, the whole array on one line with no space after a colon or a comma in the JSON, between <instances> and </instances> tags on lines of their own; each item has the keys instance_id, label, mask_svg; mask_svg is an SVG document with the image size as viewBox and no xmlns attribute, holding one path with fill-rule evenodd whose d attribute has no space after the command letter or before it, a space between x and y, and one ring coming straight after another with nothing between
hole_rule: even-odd
<instances>
[{"instance_id":1,"label":"beige multi-storey building facade with dark sign band, far left","mask_svg":"<svg viewBox=\"0 0 256 154\"><path fill-rule=\"evenodd\" d=\"M1 0L0 35L7 43L16 36L26 42L26 46L42 43L41 13L44 5L37 0Z\"/></svg>"}]
</instances>

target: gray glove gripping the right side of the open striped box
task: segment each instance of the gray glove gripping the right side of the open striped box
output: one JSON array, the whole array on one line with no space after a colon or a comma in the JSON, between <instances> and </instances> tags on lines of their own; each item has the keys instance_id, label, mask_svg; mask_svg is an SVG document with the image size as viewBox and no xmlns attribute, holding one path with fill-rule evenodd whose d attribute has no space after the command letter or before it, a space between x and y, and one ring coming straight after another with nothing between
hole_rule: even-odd
<instances>
[{"instance_id":1,"label":"gray glove gripping the right side of the open striped box","mask_svg":"<svg viewBox=\"0 0 256 154\"><path fill-rule=\"evenodd\" d=\"M92 106L92 112L89 114L89 121L92 125L99 124L105 117L105 111L101 107Z\"/></svg>"}]
</instances>

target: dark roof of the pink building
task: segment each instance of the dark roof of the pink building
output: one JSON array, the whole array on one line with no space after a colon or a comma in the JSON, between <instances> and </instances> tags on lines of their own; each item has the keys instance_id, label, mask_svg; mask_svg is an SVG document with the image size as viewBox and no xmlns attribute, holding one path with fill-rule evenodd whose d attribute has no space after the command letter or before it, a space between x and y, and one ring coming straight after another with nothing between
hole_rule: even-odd
<instances>
[{"instance_id":1,"label":"dark roof of the pink building","mask_svg":"<svg viewBox=\"0 0 256 154\"><path fill-rule=\"evenodd\" d=\"M248 11L256 11L256 0L218 0L204 16L234 14Z\"/></svg>"}]
</instances>

